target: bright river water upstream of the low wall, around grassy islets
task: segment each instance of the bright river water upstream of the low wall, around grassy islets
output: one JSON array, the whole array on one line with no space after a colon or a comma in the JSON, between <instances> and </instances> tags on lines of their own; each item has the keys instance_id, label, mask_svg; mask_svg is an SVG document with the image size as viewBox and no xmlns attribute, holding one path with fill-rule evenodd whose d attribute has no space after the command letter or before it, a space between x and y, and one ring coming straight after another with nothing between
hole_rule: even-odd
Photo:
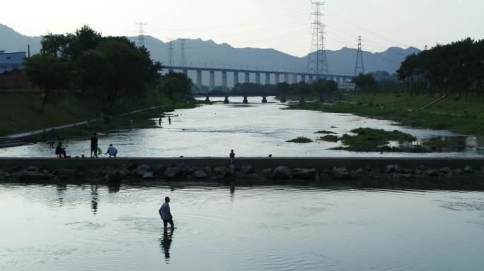
<instances>
[{"instance_id":1,"label":"bright river water upstream of the low wall, around grassy islets","mask_svg":"<svg viewBox=\"0 0 484 271\"><path fill-rule=\"evenodd\" d=\"M212 98L223 100L223 98ZM231 104L214 104L195 109L180 109L173 114L171 125L164 119L163 128L135 129L100 135L99 143L106 150L113 143L120 157L225 157L234 149L238 157L483 157L484 138L465 137L459 152L430 154L347 152L328 150L338 143L317 141L309 144L287 143L298 136L313 140L321 137L316 131L333 131L338 135L354 128L398 129L417 139L451 136L448 131L432 131L396 126L391 121L368 119L352 114L333 114L300 110L282 110L286 105L262 104L260 97L231 97ZM157 120L154 120L157 121ZM89 138L67 140L67 154L89 155ZM54 149L46 143L0 149L0 157L54 157Z\"/></svg>"}]
</instances>

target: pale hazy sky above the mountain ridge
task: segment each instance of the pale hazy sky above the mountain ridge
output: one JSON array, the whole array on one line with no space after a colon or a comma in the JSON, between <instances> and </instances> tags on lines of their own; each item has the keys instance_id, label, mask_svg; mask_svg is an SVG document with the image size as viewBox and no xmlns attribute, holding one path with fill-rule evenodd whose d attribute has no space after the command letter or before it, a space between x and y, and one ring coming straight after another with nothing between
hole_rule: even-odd
<instances>
[{"instance_id":1,"label":"pale hazy sky above the mountain ridge","mask_svg":"<svg viewBox=\"0 0 484 271\"><path fill-rule=\"evenodd\" d=\"M327 0L327 49L391 46L422 49L463 37L484 38L484 0ZM0 23L23 35L72 32L84 24L103 35L202 38L234 47L275 48L304 56L311 45L310 0L22 0L1 1Z\"/></svg>"}]
</instances>

